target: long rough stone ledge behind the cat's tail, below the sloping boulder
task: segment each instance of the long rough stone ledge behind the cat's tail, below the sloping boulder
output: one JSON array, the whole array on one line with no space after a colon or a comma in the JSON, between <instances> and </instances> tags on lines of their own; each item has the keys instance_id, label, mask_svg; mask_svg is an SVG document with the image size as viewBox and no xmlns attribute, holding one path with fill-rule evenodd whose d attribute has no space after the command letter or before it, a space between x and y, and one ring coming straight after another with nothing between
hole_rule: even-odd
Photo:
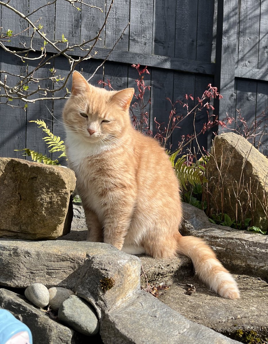
<instances>
[{"instance_id":1,"label":"long rough stone ledge behind the cat's tail, below the sloping boulder","mask_svg":"<svg viewBox=\"0 0 268 344\"><path fill-rule=\"evenodd\" d=\"M214 225L206 214L183 203L184 222L180 232L204 238L216 251L218 259L234 273L268 278L268 236Z\"/></svg>"}]
</instances>

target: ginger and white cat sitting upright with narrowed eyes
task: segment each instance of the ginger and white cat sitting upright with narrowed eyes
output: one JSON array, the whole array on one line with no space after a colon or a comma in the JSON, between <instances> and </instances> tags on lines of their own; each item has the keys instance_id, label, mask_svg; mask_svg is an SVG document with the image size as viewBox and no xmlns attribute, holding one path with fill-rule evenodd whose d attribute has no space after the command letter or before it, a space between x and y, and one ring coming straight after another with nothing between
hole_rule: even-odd
<instances>
[{"instance_id":1,"label":"ginger and white cat sitting upright with narrowed eyes","mask_svg":"<svg viewBox=\"0 0 268 344\"><path fill-rule=\"evenodd\" d=\"M133 88L116 92L94 87L73 73L63 121L87 240L155 258L184 254L211 289L239 298L235 280L212 249L200 238L179 233L178 180L158 142L133 128L128 112L133 94Z\"/></svg>"}]
</instances>

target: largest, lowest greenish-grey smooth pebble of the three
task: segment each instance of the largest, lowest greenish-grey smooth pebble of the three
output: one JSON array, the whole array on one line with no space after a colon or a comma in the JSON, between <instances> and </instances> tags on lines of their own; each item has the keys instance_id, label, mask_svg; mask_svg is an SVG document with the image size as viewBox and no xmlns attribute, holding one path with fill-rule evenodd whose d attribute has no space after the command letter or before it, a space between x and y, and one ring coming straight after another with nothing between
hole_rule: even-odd
<instances>
[{"instance_id":1,"label":"largest, lowest greenish-grey smooth pebble of the three","mask_svg":"<svg viewBox=\"0 0 268 344\"><path fill-rule=\"evenodd\" d=\"M93 307L76 295L63 301L58 316L59 320L72 329L87 336L97 334L100 330L99 319Z\"/></svg>"}]
</instances>

